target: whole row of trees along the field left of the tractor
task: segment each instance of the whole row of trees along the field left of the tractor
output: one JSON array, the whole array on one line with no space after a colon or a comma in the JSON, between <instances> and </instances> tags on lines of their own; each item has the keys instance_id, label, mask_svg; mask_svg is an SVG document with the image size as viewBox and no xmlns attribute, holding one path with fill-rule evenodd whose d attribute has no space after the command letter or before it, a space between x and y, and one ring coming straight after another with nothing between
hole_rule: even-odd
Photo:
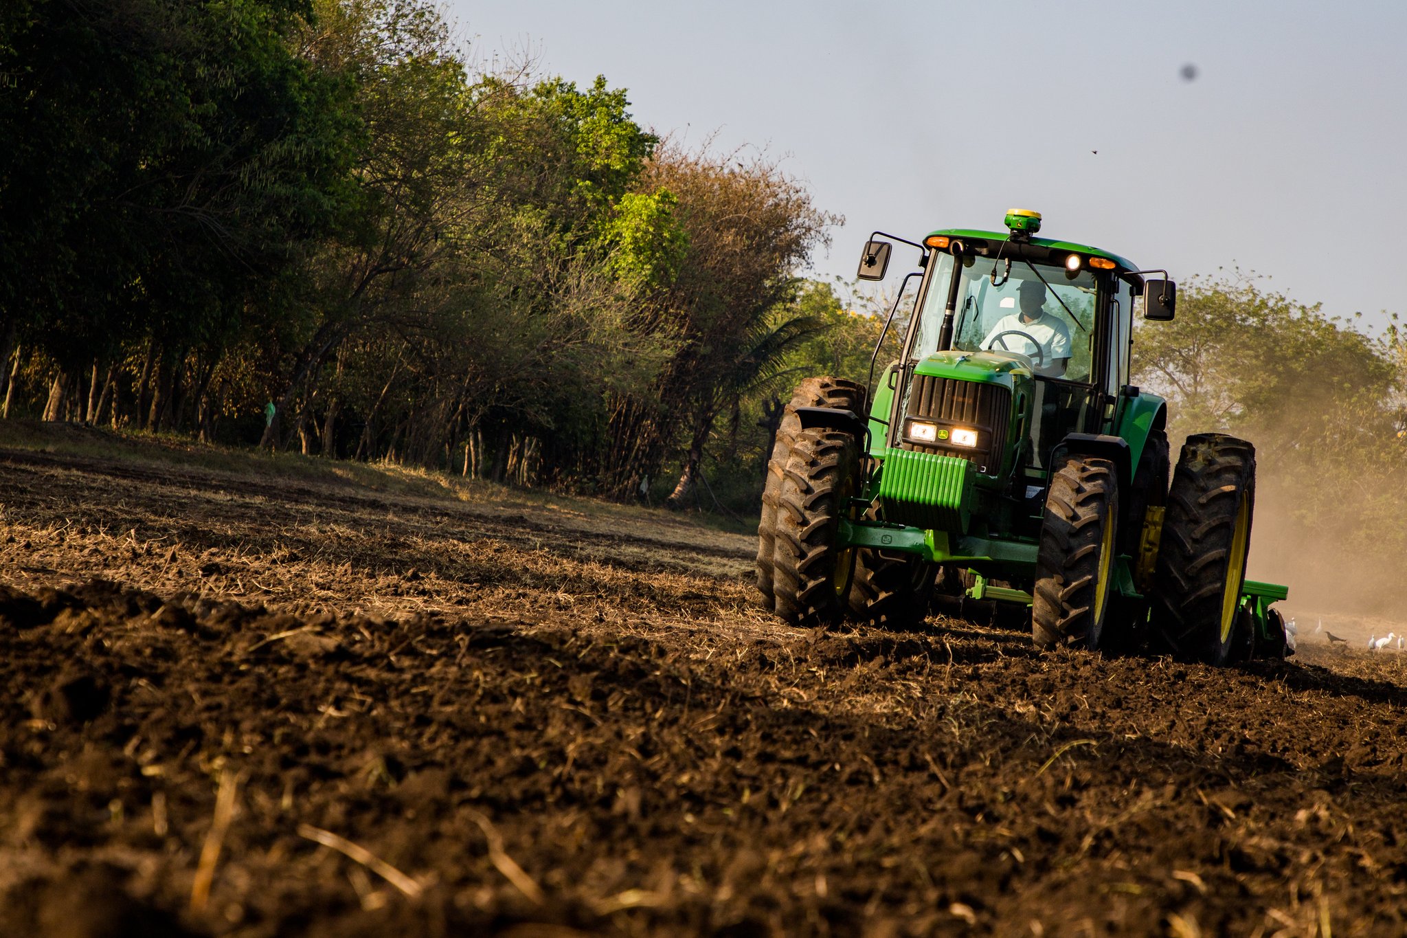
<instances>
[{"instance_id":1,"label":"whole row of trees along the field left of the tractor","mask_svg":"<svg viewBox=\"0 0 1407 938\"><path fill-rule=\"evenodd\" d=\"M6 418L694 503L872 328L775 160L426 0L13 0L0 139Z\"/></svg>"}]
</instances>

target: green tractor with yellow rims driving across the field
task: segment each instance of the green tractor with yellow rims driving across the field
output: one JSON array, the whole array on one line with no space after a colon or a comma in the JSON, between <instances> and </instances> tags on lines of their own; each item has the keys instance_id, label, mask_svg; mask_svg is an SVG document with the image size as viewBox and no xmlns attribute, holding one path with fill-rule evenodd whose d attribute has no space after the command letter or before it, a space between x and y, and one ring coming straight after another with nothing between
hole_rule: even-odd
<instances>
[{"instance_id":1,"label":"green tractor with yellow rims driving across the field","mask_svg":"<svg viewBox=\"0 0 1407 938\"><path fill-rule=\"evenodd\" d=\"M878 381L874 364L868 387L808 378L787 406L758 526L767 605L909 629L944 593L1029 608L1041 648L1289 654L1271 608L1287 589L1245 579L1255 449L1189 436L1169 478L1166 402L1130 384L1134 309L1172 319L1176 285L1037 238L1037 212L1006 228L870 238L865 280L893 242L920 252L915 315Z\"/></svg>"}]
</instances>

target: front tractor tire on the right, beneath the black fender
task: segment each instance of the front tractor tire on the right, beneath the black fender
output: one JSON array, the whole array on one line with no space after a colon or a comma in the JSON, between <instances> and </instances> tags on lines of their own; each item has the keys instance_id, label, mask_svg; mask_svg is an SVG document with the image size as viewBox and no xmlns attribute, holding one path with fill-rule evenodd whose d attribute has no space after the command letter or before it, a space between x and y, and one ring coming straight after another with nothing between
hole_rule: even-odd
<instances>
[{"instance_id":1,"label":"front tractor tire on the right, beneath the black fender","mask_svg":"<svg viewBox=\"0 0 1407 938\"><path fill-rule=\"evenodd\" d=\"M1037 648L1093 651L1109 617L1117 561L1119 471L1071 456L1051 475L1041 522L1031 638Z\"/></svg>"}]
</instances>

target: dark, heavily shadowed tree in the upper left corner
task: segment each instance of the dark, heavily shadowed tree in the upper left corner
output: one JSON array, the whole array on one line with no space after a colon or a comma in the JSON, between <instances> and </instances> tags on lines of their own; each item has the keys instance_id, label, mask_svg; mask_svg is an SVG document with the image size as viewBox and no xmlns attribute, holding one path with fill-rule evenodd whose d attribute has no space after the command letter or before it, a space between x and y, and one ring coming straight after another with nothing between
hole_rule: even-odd
<instances>
[{"instance_id":1,"label":"dark, heavily shadowed tree in the upper left corner","mask_svg":"<svg viewBox=\"0 0 1407 938\"><path fill-rule=\"evenodd\" d=\"M6 17L0 318L55 360L55 388L149 338L151 412L169 422L186 350L273 302L336 222L349 101L291 49L304 13L34 0Z\"/></svg>"}]
</instances>

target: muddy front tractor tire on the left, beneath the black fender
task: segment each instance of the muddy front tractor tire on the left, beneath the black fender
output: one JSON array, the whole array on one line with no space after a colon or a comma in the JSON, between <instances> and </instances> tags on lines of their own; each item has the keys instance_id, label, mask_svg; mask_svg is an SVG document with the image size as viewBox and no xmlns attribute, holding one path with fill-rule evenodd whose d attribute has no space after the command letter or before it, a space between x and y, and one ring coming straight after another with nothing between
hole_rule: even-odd
<instances>
[{"instance_id":1,"label":"muddy front tractor tire on the left, beneath the black fender","mask_svg":"<svg viewBox=\"0 0 1407 938\"><path fill-rule=\"evenodd\" d=\"M860 485L860 440L827 429L802 430L777 499L772 599L795 626L840 622L850 595L854 548L839 547L840 519Z\"/></svg>"}]
</instances>

